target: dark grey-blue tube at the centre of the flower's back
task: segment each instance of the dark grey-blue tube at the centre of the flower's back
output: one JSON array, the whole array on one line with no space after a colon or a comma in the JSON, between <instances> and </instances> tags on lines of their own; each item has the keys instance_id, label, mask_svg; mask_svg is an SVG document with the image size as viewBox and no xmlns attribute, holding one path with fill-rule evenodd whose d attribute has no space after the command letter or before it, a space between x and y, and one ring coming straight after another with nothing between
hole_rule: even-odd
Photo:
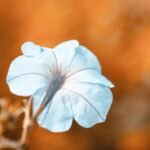
<instances>
[{"instance_id":1,"label":"dark grey-blue tube at the centre of the flower's back","mask_svg":"<svg viewBox=\"0 0 150 150\"><path fill-rule=\"evenodd\" d=\"M51 100L57 91L62 87L65 82L65 75L61 71L54 71L50 76L49 86L46 90L46 95L43 99L42 105L45 107Z\"/></svg>"}]
</instances>

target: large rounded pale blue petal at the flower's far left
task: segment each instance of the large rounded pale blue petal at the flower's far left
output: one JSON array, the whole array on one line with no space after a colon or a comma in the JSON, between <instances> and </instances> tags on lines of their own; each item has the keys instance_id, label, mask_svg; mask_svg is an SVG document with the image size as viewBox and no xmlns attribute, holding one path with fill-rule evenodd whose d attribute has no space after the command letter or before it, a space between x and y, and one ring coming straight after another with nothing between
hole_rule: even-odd
<instances>
[{"instance_id":1,"label":"large rounded pale blue petal at the flower's far left","mask_svg":"<svg viewBox=\"0 0 150 150\"><path fill-rule=\"evenodd\" d=\"M50 52L36 57L20 56L10 65L7 83L12 93L22 96L32 95L37 89L47 86L50 69L55 59Z\"/></svg>"}]
</instances>

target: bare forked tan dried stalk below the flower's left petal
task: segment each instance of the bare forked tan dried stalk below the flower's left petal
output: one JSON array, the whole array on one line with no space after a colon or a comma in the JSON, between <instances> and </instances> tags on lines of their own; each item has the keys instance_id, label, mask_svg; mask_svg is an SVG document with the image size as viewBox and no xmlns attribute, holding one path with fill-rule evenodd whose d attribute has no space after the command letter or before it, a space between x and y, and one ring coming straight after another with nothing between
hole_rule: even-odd
<instances>
[{"instance_id":1,"label":"bare forked tan dried stalk below the flower's left petal","mask_svg":"<svg viewBox=\"0 0 150 150\"><path fill-rule=\"evenodd\" d=\"M28 136L29 133L34 126L34 123L43 110L43 106L41 105L35 114L32 116L32 104L33 97L30 97L28 102L25 100L25 107L24 107L24 120L23 120L23 130L22 135L19 141L13 141L4 137L0 138L0 148L12 148L16 150L25 150L28 147ZM18 111L16 113L16 116L19 116L22 113L22 111Z\"/></svg>"}]
</instances>

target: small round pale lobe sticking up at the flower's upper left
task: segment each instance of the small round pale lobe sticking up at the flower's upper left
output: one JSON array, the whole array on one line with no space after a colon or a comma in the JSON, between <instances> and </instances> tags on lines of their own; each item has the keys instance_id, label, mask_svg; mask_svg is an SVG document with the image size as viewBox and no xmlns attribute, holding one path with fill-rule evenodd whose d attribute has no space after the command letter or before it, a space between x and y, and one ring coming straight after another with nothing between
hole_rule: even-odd
<instances>
[{"instance_id":1,"label":"small round pale lobe sticking up at the flower's upper left","mask_svg":"<svg viewBox=\"0 0 150 150\"><path fill-rule=\"evenodd\" d=\"M32 42L25 42L21 46L21 50L25 56L36 56L42 52L41 47Z\"/></svg>"}]
</instances>

